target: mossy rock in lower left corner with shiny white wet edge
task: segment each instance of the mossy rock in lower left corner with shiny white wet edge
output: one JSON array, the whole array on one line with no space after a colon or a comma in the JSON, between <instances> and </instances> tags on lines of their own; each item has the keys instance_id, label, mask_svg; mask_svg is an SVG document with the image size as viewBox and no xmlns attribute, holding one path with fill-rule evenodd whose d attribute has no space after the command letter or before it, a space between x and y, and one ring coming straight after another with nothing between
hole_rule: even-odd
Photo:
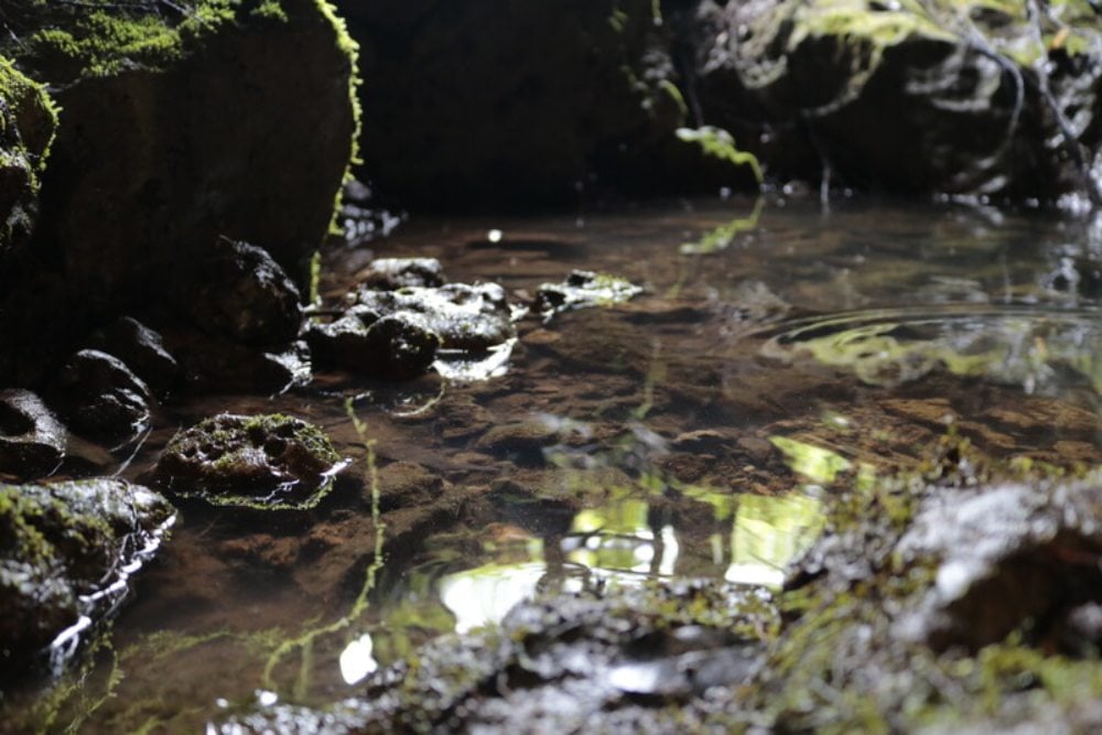
<instances>
[{"instance_id":1,"label":"mossy rock in lower left corner with shiny white wet edge","mask_svg":"<svg viewBox=\"0 0 1102 735\"><path fill-rule=\"evenodd\" d=\"M172 518L163 498L122 480L0 485L0 680L47 646L55 668L72 656Z\"/></svg>"}]
</instances>

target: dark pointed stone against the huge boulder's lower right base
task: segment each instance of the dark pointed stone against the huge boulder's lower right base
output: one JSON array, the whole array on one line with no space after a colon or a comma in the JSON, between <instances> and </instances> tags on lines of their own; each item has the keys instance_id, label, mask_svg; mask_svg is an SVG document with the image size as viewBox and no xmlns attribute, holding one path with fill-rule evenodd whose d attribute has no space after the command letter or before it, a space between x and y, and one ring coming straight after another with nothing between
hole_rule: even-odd
<instances>
[{"instance_id":1,"label":"dark pointed stone against the huge boulder's lower right base","mask_svg":"<svg viewBox=\"0 0 1102 735\"><path fill-rule=\"evenodd\" d=\"M247 345L292 342L302 326L299 289L268 251L220 240L176 302L203 329Z\"/></svg>"}]
</instances>

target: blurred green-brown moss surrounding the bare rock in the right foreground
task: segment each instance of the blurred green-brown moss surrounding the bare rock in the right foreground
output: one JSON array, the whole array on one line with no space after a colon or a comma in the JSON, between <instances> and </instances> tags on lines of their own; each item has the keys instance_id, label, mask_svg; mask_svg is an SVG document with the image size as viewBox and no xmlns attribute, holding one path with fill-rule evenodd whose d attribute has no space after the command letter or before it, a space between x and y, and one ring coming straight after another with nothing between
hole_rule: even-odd
<instances>
[{"instance_id":1,"label":"blurred green-brown moss surrounding the bare rock in the right foreground","mask_svg":"<svg viewBox=\"0 0 1102 735\"><path fill-rule=\"evenodd\" d=\"M893 629L894 620L917 607L934 585L939 566L937 559L903 559L894 551L922 498L1001 482L1029 482L1044 494L1066 475L993 463L950 433L919 469L839 491L827 504L827 569L778 598L789 623L776 637L763 674L754 685L733 691L712 723L745 722L739 713L752 711L755 723L786 732L965 725L980 732L1007 718L1073 717L1079 703L1098 701L1102 669L1096 658L1052 655L1017 634L974 653L939 652ZM1098 482L1099 475L1082 478ZM865 571L854 573L854 568Z\"/></svg>"}]
</instances>

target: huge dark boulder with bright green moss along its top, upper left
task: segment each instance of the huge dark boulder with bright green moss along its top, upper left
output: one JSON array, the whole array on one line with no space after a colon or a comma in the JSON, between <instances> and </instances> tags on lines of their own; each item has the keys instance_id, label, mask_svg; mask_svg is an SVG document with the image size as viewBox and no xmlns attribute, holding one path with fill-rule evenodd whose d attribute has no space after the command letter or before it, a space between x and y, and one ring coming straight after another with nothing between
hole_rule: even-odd
<instances>
[{"instance_id":1,"label":"huge dark boulder with bright green moss along its top, upper left","mask_svg":"<svg viewBox=\"0 0 1102 735\"><path fill-rule=\"evenodd\" d=\"M14 0L0 53L62 109L28 267L61 285L9 296L9 318L67 300L83 332L163 301L220 237L305 280L357 128L355 44L324 0Z\"/></svg>"}]
</instances>

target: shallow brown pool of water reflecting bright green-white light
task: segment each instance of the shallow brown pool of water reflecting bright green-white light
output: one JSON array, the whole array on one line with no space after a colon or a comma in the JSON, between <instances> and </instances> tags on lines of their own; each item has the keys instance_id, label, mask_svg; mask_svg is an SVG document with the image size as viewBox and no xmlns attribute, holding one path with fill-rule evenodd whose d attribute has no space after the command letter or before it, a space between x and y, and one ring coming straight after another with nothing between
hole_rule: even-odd
<instances>
[{"instance_id":1,"label":"shallow brown pool of water reflecting bright green-white light","mask_svg":"<svg viewBox=\"0 0 1102 735\"><path fill-rule=\"evenodd\" d=\"M322 375L163 407L123 476L225 410L313 421L353 464L313 511L182 507L110 634L10 696L0 728L194 732L251 702L333 702L538 591L776 587L833 483L915 466L949 431L995 457L1102 461L1102 219L776 199L414 219L328 252L323 290L413 255L518 304L575 268L645 292L522 318L484 380Z\"/></svg>"}]
</instances>

